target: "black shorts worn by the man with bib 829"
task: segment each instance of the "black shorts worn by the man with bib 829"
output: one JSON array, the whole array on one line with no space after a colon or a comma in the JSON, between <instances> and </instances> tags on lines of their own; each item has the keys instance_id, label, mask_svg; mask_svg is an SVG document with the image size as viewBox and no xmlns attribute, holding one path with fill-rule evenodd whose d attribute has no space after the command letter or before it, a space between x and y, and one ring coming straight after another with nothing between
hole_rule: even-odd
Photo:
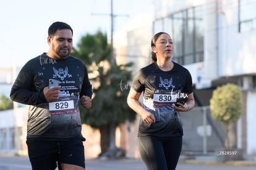
<instances>
[{"instance_id":1,"label":"black shorts worn by the man with bib 829","mask_svg":"<svg viewBox=\"0 0 256 170\"><path fill-rule=\"evenodd\" d=\"M85 168L83 141L74 138L67 141L45 141L27 139L28 156L32 169L61 169L60 164L75 164Z\"/></svg>"}]
</instances>

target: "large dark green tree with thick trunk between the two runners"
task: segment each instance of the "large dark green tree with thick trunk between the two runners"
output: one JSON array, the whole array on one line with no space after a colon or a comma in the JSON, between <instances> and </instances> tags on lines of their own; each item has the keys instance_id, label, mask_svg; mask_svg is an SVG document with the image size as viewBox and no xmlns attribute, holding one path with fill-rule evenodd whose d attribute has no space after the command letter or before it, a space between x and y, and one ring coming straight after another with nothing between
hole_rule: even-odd
<instances>
[{"instance_id":1,"label":"large dark green tree with thick trunk between the two runners","mask_svg":"<svg viewBox=\"0 0 256 170\"><path fill-rule=\"evenodd\" d=\"M117 125L134 121L136 116L126 103L129 90L122 87L130 80L131 72L127 67L132 64L117 66L110 63L111 46L107 36L100 31L83 36L72 55L85 62L93 84L92 109L81 108L82 122L100 129L100 155L114 157L120 151L115 145Z\"/></svg>"}]
</instances>

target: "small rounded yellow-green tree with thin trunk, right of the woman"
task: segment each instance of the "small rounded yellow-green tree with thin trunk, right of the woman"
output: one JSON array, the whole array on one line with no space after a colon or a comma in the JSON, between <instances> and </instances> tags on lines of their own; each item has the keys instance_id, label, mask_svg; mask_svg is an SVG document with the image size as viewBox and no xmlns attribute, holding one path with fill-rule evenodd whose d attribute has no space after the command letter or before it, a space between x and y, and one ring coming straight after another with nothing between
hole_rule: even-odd
<instances>
[{"instance_id":1,"label":"small rounded yellow-green tree with thin trunk, right of the woman","mask_svg":"<svg viewBox=\"0 0 256 170\"><path fill-rule=\"evenodd\" d=\"M226 149L236 148L234 135L234 123L242 113L242 97L239 87L233 83L227 83L216 88L210 99L211 116L217 121L223 122L227 130L225 142Z\"/></svg>"}]
</instances>

